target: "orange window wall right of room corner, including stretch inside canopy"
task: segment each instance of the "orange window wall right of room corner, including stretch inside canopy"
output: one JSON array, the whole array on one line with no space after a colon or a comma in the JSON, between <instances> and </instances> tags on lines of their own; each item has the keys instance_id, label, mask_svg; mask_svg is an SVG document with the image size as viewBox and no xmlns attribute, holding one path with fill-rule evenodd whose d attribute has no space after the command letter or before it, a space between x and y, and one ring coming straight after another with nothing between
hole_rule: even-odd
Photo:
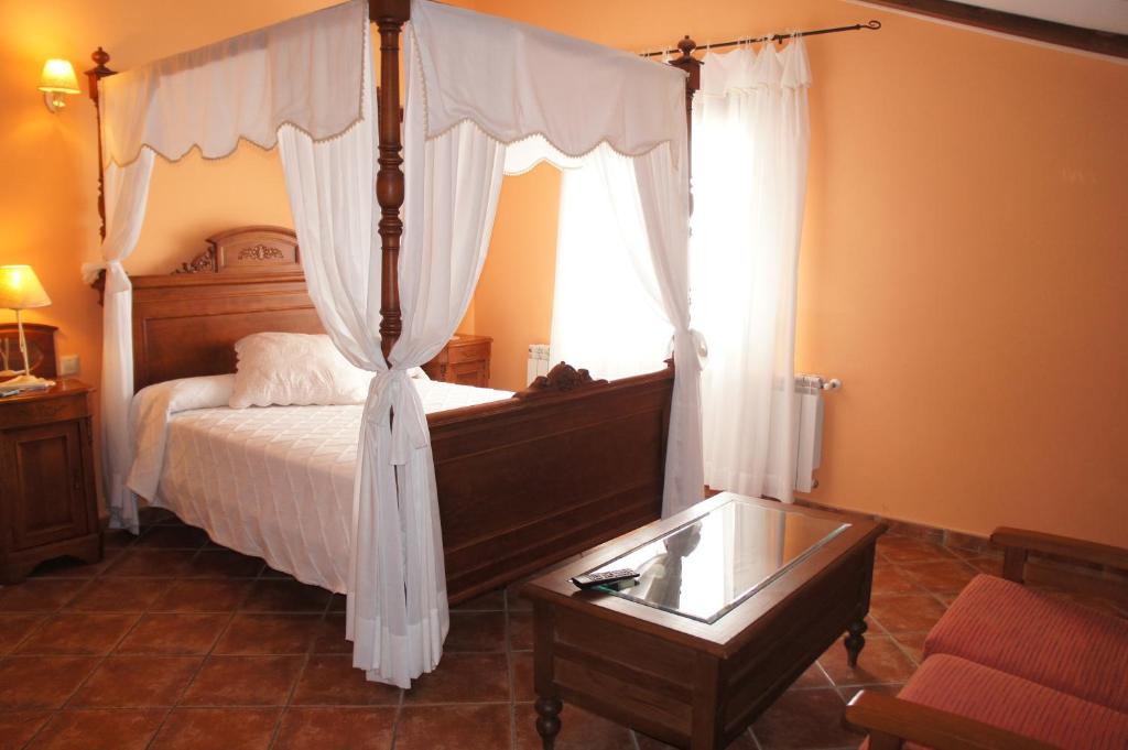
<instances>
[{"instance_id":1,"label":"orange window wall right of room corner, including stretch inside canopy","mask_svg":"<svg viewBox=\"0 0 1128 750\"><path fill-rule=\"evenodd\" d=\"M810 496L1128 546L1128 65L831 0L481 8L627 50L882 20L808 42L796 365L845 382ZM476 332L522 359L549 332L553 264L528 256L553 255L558 200L526 179L476 299Z\"/></svg>"}]
</instances>

